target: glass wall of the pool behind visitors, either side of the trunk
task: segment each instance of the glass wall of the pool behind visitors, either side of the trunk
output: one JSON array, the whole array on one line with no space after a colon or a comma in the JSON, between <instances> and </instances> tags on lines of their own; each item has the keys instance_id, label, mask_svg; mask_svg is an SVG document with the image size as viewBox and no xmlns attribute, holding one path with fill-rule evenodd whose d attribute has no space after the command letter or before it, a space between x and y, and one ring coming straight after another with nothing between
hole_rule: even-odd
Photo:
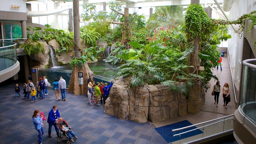
<instances>
[{"instance_id":1,"label":"glass wall of the pool behind visitors, either side of the trunk","mask_svg":"<svg viewBox=\"0 0 256 144\"><path fill-rule=\"evenodd\" d=\"M64 70L64 69L52 69L52 68L38 68L38 77L46 76L48 79L48 82L52 85L54 82L54 79L60 79L60 76L63 77L63 79L66 80L67 87L69 86L69 80L71 77L72 70ZM96 82L102 82L102 83L108 83L110 84L111 79L103 77L103 76L98 76L92 74L93 79Z\"/></svg>"}]
</instances>

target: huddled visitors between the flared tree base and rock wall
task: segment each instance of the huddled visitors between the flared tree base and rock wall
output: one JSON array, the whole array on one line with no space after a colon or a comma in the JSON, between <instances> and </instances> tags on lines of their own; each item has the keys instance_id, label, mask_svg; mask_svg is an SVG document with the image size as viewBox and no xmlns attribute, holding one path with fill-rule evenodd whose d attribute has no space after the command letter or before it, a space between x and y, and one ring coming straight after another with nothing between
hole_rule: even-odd
<instances>
[{"instance_id":1,"label":"huddled visitors between the flared tree base and rock wall","mask_svg":"<svg viewBox=\"0 0 256 144\"><path fill-rule=\"evenodd\" d=\"M87 80L87 97L88 97L88 104L92 106L92 103L96 102L96 106L100 106L102 104L102 98L103 98L103 104L105 106L106 100L108 98L110 88L113 85L113 80L111 79L110 85L108 83L105 83L105 86L103 83L97 82L95 85L95 82L93 80L93 76L90 76ZM96 95L96 101L94 100L94 96ZM100 103L99 103L100 100Z\"/></svg>"}]
</instances>

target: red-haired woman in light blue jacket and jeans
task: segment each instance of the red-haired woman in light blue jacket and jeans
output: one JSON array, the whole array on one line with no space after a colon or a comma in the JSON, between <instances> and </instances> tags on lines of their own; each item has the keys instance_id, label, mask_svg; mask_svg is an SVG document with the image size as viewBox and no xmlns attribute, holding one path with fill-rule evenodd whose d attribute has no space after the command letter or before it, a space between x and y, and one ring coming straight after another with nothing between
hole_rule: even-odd
<instances>
[{"instance_id":1,"label":"red-haired woman in light blue jacket and jeans","mask_svg":"<svg viewBox=\"0 0 256 144\"><path fill-rule=\"evenodd\" d=\"M42 144L42 135L44 134L44 127L41 124L42 119L39 116L39 110L36 109L34 111L34 115L32 116L32 118L33 118L33 123L34 123L35 129L39 133L39 135L38 135L39 144Z\"/></svg>"}]
</instances>

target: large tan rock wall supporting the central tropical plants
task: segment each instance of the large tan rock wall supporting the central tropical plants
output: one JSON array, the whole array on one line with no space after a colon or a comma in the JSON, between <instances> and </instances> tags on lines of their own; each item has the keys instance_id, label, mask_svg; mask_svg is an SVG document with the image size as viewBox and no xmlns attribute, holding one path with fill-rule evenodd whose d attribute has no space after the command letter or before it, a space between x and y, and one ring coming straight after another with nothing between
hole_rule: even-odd
<instances>
[{"instance_id":1,"label":"large tan rock wall supporting the central tropical plants","mask_svg":"<svg viewBox=\"0 0 256 144\"><path fill-rule=\"evenodd\" d=\"M145 123L161 122L188 112L199 113L205 100L202 82L197 81L189 89L188 97L179 92L171 92L162 84L128 88L127 79L116 80L104 113L123 120Z\"/></svg>"}]
</instances>

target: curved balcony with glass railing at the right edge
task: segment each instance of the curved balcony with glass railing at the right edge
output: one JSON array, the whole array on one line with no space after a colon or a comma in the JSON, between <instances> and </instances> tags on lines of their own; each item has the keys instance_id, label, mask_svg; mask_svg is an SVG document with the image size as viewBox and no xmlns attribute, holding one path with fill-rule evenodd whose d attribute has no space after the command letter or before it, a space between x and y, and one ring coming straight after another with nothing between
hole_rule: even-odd
<instances>
[{"instance_id":1,"label":"curved balcony with glass railing at the right edge","mask_svg":"<svg viewBox=\"0 0 256 144\"><path fill-rule=\"evenodd\" d=\"M243 65L242 93L240 106L235 111L234 137L238 143L254 143L256 140L256 59L244 60Z\"/></svg>"}]
</instances>

